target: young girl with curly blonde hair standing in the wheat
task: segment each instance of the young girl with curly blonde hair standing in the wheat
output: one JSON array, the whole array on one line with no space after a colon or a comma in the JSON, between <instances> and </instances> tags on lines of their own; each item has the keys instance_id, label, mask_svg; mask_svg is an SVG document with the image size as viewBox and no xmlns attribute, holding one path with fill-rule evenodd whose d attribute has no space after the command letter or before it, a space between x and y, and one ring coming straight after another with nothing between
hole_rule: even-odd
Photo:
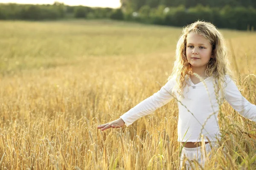
<instances>
[{"instance_id":1,"label":"young girl with curly blonde hair standing in the wheat","mask_svg":"<svg viewBox=\"0 0 256 170\"><path fill-rule=\"evenodd\" d=\"M201 143L205 142L207 153L211 150L210 144L218 147L216 141L221 133L217 116L224 99L239 114L256 122L256 106L241 95L228 67L227 49L218 29L203 21L192 23L183 28L177 42L176 61L168 82L119 119L98 128L129 126L176 99L179 108L177 140L184 146L180 168L184 155L204 165ZM185 166L189 167L188 161Z\"/></svg>"}]
</instances>

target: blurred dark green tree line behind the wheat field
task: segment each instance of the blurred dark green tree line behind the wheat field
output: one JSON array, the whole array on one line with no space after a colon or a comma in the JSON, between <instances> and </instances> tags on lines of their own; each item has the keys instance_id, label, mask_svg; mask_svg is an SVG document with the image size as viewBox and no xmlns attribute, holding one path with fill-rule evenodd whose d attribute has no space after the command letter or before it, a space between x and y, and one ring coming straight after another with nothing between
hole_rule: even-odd
<instances>
[{"instance_id":1,"label":"blurred dark green tree line behind the wheat field","mask_svg":"<svg viewBox=\"0 0 256 170\"><path fill-rule=\"evenodd\" d=\"M253 30L256 27L256 3L252 0L233 1L224 7L220 0L209 3L192 3L195 0L121 0L121 8L91 8L52 5L0 4L0 20L58 20L65 18L113 19L167 26L186 26L195 20L206 20L218 28ZM208 0L197 0L197 2ZM136 3L131 3L136 2ZM144 3L143 3L144 2ZM210 2L210 1L209 1ZM222 1L223 3L224 1ZM236 3L234 3L236 2ZM256 1L255 1L256 2ZM219 3L220 4L220 3ZM245 5L247 4L247 5Z\"/></svg>"}]
</instances>

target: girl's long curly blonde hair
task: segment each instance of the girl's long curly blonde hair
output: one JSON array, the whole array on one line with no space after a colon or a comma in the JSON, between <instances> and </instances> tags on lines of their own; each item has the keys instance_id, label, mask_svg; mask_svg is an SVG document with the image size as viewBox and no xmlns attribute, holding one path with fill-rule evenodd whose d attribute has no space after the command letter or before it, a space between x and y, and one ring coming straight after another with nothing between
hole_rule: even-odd
<instances>
[{"instance_id":1,"label":"girl's long curly blonde hair","mask_svg":"<svg viewBox=\"0 0 256 170\"><path fill-rule=\"evenodd\" d=\"M227 59L227 48L224 42L224 37L220 31L218 31L212 23L205 21L198 20L195 23L183 27L183 32L177 42L176 59L172 75L168 80L172 77L176 77L175 88L177 89L177 94L184 98L183 88L187 85L186 80L189 79L189 76L192 74L191 65L186 58L187 35L191 32L204 36L211 43L212 54L214 57L207 63L205 75L214 78L217 85L217 91L219 92L219 90L221 90L221 94L224 95L222 84L226 80L225 75L230 75L231 79L233 77L229 69L230 63Z\"/></svg>"}]
</instances>

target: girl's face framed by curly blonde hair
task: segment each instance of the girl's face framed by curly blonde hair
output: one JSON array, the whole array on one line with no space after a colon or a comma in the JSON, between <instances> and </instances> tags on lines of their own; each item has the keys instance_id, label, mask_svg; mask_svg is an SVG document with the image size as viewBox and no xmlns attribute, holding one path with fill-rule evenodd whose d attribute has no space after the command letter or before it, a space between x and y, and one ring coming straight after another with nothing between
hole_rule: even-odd
<instances>
[{"instance_id":1,"label":"girl's face framed by curly blonde hair","mask_svg":"<svg viewBox=\"0 0 256 170\"><path fill-rule=\"evenodd\" d=\"M187 35L186 58L192 68L206 70L212 55L211 43L202 35L191 32Z\"/></svg>"}]
</instances>

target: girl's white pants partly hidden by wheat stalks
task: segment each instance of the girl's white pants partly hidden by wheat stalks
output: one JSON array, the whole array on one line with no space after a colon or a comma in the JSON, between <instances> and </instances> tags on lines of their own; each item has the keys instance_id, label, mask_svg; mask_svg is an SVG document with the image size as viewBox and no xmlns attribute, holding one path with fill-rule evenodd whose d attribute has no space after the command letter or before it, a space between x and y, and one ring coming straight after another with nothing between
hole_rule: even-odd
<instances>
[{"instance_id":1,"label":"girl's white pants partly hidden by wheat stalks","mask_svg":"<svg viewBox=\"0 0 256 170\"><path fill-rule=\"evenodd\" d=\"M216 143L216 142L211 142L212 144L212 147L214 148L218 148L219 145ZM181 155L180 155L180 170L182 168L182 166L185 167L185 170L191 170L191 166L189 164L189 161L185 161L184 165L183 164L183 160L184 160L184 155L186 156L187 159L193 161L193 160L196 160L198 161L199 164L202 165L202 167L204 167L204 162L205 162L205 159L206 157L203 156L203 154L201 153L201 147L202 146L199 146L199 147L193 147L193 148L188 148L188 147L183 147L182 148L182 151L181 151ZM206 155L208 155L208 153L211 151L211 147L210 147L210 144L207 143L205 144L205 153ZM211 158L211 155L209 156L209 158ZM194 164L194 163L193 163Z\"/></svg>"}]
</instances>

